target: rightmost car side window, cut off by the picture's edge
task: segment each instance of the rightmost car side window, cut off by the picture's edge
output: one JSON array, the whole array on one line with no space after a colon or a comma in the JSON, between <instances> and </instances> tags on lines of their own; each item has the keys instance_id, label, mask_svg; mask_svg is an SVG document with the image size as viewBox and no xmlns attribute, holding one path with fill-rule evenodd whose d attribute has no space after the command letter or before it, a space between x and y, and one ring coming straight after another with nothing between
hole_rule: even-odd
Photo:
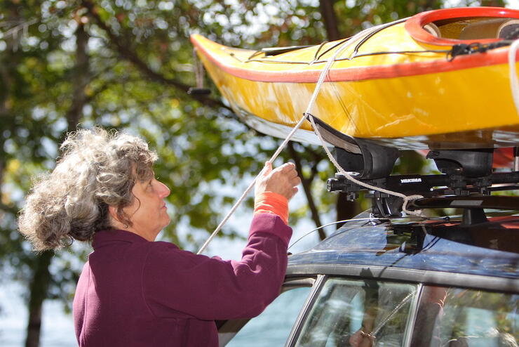
<instances>
[{"instance_id":1,"label":"rightmost car side window, cut off by the picture's edge","mask_svg":"<svg viewBox=\"0 0 519 347\"><path fill-rule=\"evenodd\" d=\"M517 347L517 294L424 287L412 346Z\"/></svg>"}]
</instances>

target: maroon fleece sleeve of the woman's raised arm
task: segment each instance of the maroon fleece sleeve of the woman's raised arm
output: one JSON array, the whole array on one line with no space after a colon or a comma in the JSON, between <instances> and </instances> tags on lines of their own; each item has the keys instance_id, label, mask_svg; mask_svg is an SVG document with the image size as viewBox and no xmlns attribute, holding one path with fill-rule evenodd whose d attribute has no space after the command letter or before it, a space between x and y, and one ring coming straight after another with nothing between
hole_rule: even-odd
<instances>
[{"instance_id":1,"label":"maroon fleece sleeve of the woman's raised arm","mask_svg":"<svg viewBox=\"0 0 519 347\"><path fill-rule=\"evenodd\" d=\"M196 255L154 242L142 290L157 317L228 320L255 317L278 296L292 229L275 214L256 214L241 261Z\"/></svg>"}]
</instances>

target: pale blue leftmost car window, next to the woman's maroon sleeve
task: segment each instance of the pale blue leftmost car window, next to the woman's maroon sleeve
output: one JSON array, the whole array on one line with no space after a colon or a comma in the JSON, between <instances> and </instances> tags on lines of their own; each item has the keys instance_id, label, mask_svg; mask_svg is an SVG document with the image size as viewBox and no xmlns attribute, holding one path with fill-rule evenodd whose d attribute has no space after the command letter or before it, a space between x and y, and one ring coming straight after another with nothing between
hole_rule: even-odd
<instances>
[{"instance_id":1,"label":"pale blue leftmost car window, next to the woman's maroon sleeve","mask_svg":"<svg viewBox=\"0 0 519 347\"><path fill-rule=\"evenodd\" d=\"M236 328L235 332L231 334L234 335L238 329L239 331L227 344L223 343L226 339L225 336L222 336L225 329L220 329L220 345L227 347L285 346L311 287L290 287L285 290L259 316L248 321L242 320L241 325L246 322L245 326ZM239 325L238 321L229 321L227 325L232 325L232 323Z\"/></svg>"}]
</instances>

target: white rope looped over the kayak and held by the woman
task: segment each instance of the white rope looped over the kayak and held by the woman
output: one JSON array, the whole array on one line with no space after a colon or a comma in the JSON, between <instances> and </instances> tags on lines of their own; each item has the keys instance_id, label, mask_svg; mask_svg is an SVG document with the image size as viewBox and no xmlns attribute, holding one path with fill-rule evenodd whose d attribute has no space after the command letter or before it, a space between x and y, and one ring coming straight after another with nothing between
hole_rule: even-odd
<instances>
[{"instance_id":1,"label":"white rope looped over the kayak and held by the woman","mask_svg":"<svg viewBox=\"0 0 519 347\"><path fill-rule=\"evenodd\" d=\"M375 27L370 27L369 29L366 29L366 30L363 30L362 32L359 32L358 34L354 35L353 37L351 37L351 39L349 39L348 41L345 41L344 44L342 44L342 46L339 46L339 48L337 49L337 51L335 51L335 53L330 57L330 59L328 59L328 63L326 63L325 67L323 68L323 70L321 71L321 74L319 75L319 79L317 81L317 84L316 84L316 88L314 89L314 93L312 94L311 98L310 98L310 102L308 104L308 107L306 107L306 112L304 112L303 114L303 117L299 120L299 122L297 122L297 124L294 126L294 128L292 129L292 131L290 131L290 133L288 134L288 136L285 138L285 140L283 140L283 143L281 143L281 145L279 145L278 149L276 150L276 152L274 153L274 155L272 155L272 157L269 159L269 163L273 163L274 160L276 160L276 158L278 157L279 153L281 153L281 151L285 148L285 146L287 145L288 141L290 141L290 138L292 138L292 136L294 135L294 133L302 126L302 124L304 123L304 121L306 120L306 118L309 116L310 112L311 112L311 108L314 106L314 103L316 101L316 98L318 96L318 93L321 89L321 86L326 78L326 76L328 75L328 71L330 70L330 67L332 67L333 63L335 63L335 59L337 58L337 56L339 54L341 54L346 48L348 48L349 46L351 46L351 44L355 43L358 39L360 39L361 37L365 37L367 35L369 35L371 32L375 31L375 30L378 30L379 27L382 27L384 25L377 25ZM321 140L321 143L323 144L323 148L325 148L325 151L326 153L330 153L328 148L326 147L326 143L324 142L323 138L321 137L321 133L318 132L314 122L312 122L313 126L314 126L314 131L316 132L318 138ZM328 155L328 157L330 157L330 155ZM345 171L344 169L341 168L341 166L339 166L339 164L336 164L337 162L335 162L335 159L332 159L333 156L330 157L330 160L332 160L332 162L335 164L335 166L337 167L337 169L339 169L339 171L342 171L342 173L344 174ZM254 178L254 180L250 183L250 185L248 186L247 189L245 189L245 191L243 192L243 194L241 195L241 197L239 197L239 199L236 201L236 203L234 204L233 207L231 207L231 210L227 213L227 215L223 218L223 220L220 222L220 224L217 226L217 228L215 229L215 231L213 231L213 233L208 237L208 240L206 240L204 242L204 244L202 245L202 247L200 249L198 249L198 252L196 252L196 254L201 254L207 247L208 247L208 244L210 244L210 242L215 238L215 236L217 235L217 233L220 232L220 230L222 229L222 227L224 226L225 223L227 223L227 221L229 220L229 218L232 216L232 214L234 214L234 211L236 211L236 209L238 208L238 206L241 204L241 202L243 202L243 200L245 199L245 197L248 195L248 193L250 192L250 190L252 190L252 188L254 187L255 183L256 183L256 180L258 177L260 177L260 175L262 174L262 172L260 171L260 174L257 174L257 176ZM351 176L349 176L348 174L344 175L346 178L349 177L349 179L351 178ZM354 180L354 179L353 179ZM360 181L356 181L354 180L353 182L357 183L362 183ZM357 183L358 184L358 183ZM374 189L374 190L379 190L379 191L382 191L382 188L377 188L377 187L373 187L372 185L366 185L366 183L362 183L360 185L363 185L365 186L366 188L370 188L370 189ZM391 195L396 195L398 197L403 197L404 198L404 204L403 204L403 209L406 213L409 213L405 207L407 206L407 201L410 200L411 198L412 199L417 199L418 197L415 197L415 195L412 195L410 197L406 197L405 195L403 194L400 194L398 192L391 192L390 190L384 190L384 192L386 192L387 194L391 194ZM422 197L422 195L419 195L419 197ZM407 198L407 200L406 200ZM416 212L415 212L416 213Z\"/></svg>"}]
</instances>

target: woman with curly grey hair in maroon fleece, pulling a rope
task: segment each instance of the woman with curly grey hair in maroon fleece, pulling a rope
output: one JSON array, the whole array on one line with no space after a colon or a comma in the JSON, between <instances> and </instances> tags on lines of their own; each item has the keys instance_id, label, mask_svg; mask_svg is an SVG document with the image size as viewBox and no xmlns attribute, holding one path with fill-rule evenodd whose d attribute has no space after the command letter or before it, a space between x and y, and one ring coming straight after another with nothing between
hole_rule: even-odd
<instances>
[{"instance_id":1,"label":"woman with curly grey hair in maroon fleece, pulling a rope","mask_svg":"<svg viewBox=\"0 0 519 347\"><path fill-rule=\"evenodd\" d=\"M74 296L79 346L217 346L215 320L253 317L285 275L293 164L267 165L241 261L154 242L170 222L170 190L154 178L156 155L140 138L81 130L62 144L19 220L36 250L92 241Z\"/></svg>"}]
</instances>

